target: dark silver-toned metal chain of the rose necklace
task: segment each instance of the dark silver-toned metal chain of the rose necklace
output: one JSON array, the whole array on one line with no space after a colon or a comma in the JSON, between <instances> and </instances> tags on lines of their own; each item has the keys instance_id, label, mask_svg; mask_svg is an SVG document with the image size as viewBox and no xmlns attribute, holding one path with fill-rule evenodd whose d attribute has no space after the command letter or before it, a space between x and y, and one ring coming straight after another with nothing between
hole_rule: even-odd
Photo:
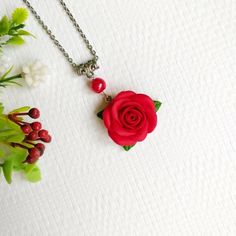
<instances>
[{"instance_id":1,"label":"dark silver-toned metal chain of the rose necklace","mask_svg":"<svg viewBox=\"0 0 236 236\"><path fill-rule=\"evenodd\" d=\"M90 44L89 40L87 39L86 35L84 34L83 30L80 28L80 25L76 22L74 16L72 15L72 13L70 12L70 10L68 9L68 7L66 6L65 2L63 0L58 0L61 4L61 6L63 7L63 9L65 10L66 14L69 16L71 22L73 23L73 25L75 26L76 30L79 32L81 38L83 39L86 47L88 48L89 52L91 53L91 55L93 56L93 59L88 61L87 63L84 64L80 64L77 65L74 60L69 56L69 54L67 53L67 51L64 49L64 47L61 45L61 43L56 39L56 36L52 33L52 31L49 29L49 27L44 23L44 21L41 19L41 17L38 15L38 13L35 11L35 9L32 7L32 5L29 3L29 1L27 0L22 0L26 6L29 8L29 10L31 11L31 13L33 14L33 16L36 18L36 20L38 21L38 23L42 26L42 28L44 29L44 31L49 35L50 39L53 41L53 43L57 46L57 48L62 52L62 54L64 55L64 57L67 59L67 61L70 63L70 65L72 65L72 67L74 68L78 68L79 69L79 74L81 73L81 67L85 67L85 65L91 64L92 62L92 69L88 68L88 70L90 70L89 72L93 74L93 70L97 69L98 66L96 65L97 60L98 60L98 56L96 51L93 49L93 46ZM91 66L91 65L90 65ZM87 69L87 68L85 68ZM85 71L86 72L86 71ZM87 75L87 73L83 73L85 75ZM90 75L90 74L89 74ZM87 75L88 76L88 75ZM89 76L88 76L89 77Z\"/></svg>"}]
</instances>

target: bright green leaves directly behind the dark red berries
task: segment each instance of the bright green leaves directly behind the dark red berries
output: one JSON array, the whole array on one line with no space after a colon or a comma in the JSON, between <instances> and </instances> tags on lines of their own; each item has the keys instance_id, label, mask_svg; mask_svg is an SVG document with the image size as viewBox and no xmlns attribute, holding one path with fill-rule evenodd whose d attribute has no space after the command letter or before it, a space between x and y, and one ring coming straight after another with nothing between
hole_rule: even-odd
<instances>
[{"instance_id":1,"label":"bright green leaves directly behind the dark red berries","mask_svg":"<svg viewBox=\"0 0 236 236\"><path fill-rule=\"evenodd\" d=\"M27 112L29 107L15 109L15 112ZM23 146L33 147L31 144L24 142L25 134L20 127L12 122L8 115L3 114L3 105L0 103L0 173L7 183L12 182L13 171L20 171L30 182L37 182L41 179L39 168L35 164L24 163L28 156L28 151Z\"/></svg>"}]
</instances>

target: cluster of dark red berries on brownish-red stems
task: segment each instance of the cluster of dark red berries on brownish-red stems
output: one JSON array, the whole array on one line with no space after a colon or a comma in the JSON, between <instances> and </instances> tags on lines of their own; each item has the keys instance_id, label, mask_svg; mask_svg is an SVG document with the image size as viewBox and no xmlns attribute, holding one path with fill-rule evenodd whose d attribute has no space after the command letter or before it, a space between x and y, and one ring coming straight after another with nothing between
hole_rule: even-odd
<instances>
[{"instance_id":1,"label":"cluster of dark red berries on brownish-red stems","mask_svg":"<svg viewBox=\"0 0 236 236\"><path fill-rule=\"evenodd\" d=\"M25 134L24 142L30 145L25 146L23 144L12 144L13 146L20 146L28 150L28 156L25 162L32 164L35 163L44 153L44 143L50 143L52 138L47 130L42 129L42 124L38 121L28 123L22 120L22 116L29 116L32 119L38 119L40 117L40 111L37 108L31 108L28 112L24 113L11 113L8 118L19 125L21 130Z\"/></svg>"}]
</instances>

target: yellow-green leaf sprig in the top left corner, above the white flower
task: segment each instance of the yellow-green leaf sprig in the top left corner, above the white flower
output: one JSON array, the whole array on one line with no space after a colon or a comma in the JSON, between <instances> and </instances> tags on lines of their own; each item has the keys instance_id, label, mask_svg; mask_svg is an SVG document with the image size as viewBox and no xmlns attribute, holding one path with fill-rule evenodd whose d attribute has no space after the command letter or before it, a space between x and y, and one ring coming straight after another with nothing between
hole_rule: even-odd
<instances>
[{"instance_id":1,"label":"yellow-green leaf sprig in the top left corner, above the white flower","mask_svg":"<svg viewBox=\"0 0 236 236\"><path fill-rule=\"evenodd\" d=\"M23 36L33 36L28 31L23 30L25 27L24 22L27 20L28 15L29 13L25 8L16 8L11 18L2 17L0 20L0 39L2 38L0 51L4 45L22 45L25 42L22 38Z\"/></svg>"}]
</instances>

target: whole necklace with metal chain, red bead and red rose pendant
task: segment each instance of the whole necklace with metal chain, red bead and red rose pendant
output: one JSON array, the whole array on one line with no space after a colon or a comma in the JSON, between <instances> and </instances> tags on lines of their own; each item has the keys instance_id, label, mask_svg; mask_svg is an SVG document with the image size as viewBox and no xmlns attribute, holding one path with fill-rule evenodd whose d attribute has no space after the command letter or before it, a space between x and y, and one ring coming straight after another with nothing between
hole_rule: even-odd
<instances>
[{"instance_id":1,"label":"whole necklace with metal chain, red bead and red rose pendant","mask_svg":"<svg viewBox=\"0 0 236 236\"><path fill-rule=\"evenodd\" d=\"M30 2L28 0L22 1L26 4L35 19L48 34L56 47L61 51L76 73L79 76L87 77L91 81L91 88L95 93L104 95L108 104L102 111L97 113L97 116L103 120L110 138L118 145L123 146L126 151L133 147L137 142L143 141L147 137L147 134L151 133L156 128L156 112L159 110L161 102L153 100L146 94L136 93L131 90L121 91L113 98L108 96L104 93L106 82L102 78L95 77L94 75L95 70L99 68L97 64L97 53L65 2L63 0L58 0L72 24L79 32L92 56L92 59L85 63L76 64L32 7Z\"/></svg>"}]
</instances>

